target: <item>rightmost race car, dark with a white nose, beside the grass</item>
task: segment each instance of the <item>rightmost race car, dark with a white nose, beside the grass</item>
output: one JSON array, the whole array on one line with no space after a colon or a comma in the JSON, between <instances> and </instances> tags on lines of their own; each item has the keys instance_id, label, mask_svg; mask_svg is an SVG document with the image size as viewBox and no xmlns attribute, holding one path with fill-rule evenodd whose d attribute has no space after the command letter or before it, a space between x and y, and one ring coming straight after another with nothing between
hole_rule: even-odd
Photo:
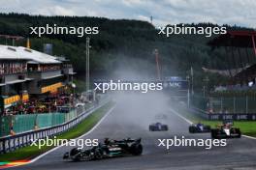
<instances>
[{"instance_id":1,"label":"rightmost race car, dark with a white nose, beside the grass","mask_svg":"<svg viewBox=\"0 0 256 170\"><path fill-rule=\"evenodd\" d=\"M211 137L220 138L240 138L240 128L233 128L233 122L224 121L222 125L211 129Z\"/></svg>"}]
</instances>

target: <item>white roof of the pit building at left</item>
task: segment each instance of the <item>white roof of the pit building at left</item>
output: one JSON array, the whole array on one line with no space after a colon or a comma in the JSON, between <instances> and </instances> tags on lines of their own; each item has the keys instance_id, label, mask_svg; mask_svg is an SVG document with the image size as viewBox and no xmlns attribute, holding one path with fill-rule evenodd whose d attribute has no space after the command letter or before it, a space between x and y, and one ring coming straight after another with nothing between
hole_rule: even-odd
<instances>
[{"instance_id":1,"label":"white roof of the pit building at left","mask_svg":"<svg viewBox=\"0 0 256 170\"><path fill-rule=\"evenodd\" d=\"M60 64L56 57L23 46L0 45L0 60L28 60L38 64Z\"/></svg>"}]
</instances>

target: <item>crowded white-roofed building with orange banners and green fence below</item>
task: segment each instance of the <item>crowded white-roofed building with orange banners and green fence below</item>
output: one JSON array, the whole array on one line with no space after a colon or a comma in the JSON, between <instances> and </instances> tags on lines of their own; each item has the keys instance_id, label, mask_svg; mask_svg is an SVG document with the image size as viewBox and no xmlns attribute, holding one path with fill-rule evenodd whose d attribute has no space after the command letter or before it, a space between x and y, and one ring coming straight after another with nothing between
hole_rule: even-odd
<instances>
[{"instance_id":1,"label":"crowded white-roofed building with orange banners and green fence below","mask_svg":"<svg viewBox=\"0 0 256 170\"><path fill-rule=\"evenodd\" d=\"M74 118L74 110L68 110L67 115L52 113L75 105L75 94L70 94L75 73L64 57L0 45L0 136Z\"/></svg>"}]
</instances>

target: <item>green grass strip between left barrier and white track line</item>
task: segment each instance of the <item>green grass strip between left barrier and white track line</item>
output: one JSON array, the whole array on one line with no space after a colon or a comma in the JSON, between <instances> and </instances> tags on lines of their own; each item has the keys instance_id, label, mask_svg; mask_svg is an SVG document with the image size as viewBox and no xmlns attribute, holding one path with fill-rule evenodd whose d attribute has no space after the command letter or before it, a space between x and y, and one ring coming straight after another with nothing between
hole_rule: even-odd
<instances>
[{"instance_id":1,"label":"green grass strip between left barrier and white track line","mask_svg":"<svg viewBox=\"0 0 256 170\"><path fill-rule=\"evenodd\" d=\"M71 128L70 130L63 132L62 134L56 135L57 139L74 139L84 134L93 128L102 118L103 116L112 108L113 103L109 102L106 105L100 107L96 111L94 111L91 115L85 118L80 124ZM32 157L39 156L53 147L44 146L39 149L37 146L27 146L24 148L20 148L15 152L0 155L0 162L5 161L15 161L15 160L29 160Z\"/></svg>"}]
</instances>

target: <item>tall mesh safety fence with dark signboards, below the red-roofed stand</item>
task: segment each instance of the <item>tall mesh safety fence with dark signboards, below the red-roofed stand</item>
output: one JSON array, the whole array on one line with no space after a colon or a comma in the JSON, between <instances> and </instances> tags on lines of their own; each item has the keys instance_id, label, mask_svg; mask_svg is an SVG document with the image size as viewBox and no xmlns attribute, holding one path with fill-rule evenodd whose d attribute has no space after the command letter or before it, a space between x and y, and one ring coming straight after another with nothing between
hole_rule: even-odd
<instances>
[{"instance_id":1,"label":"tall mesh safety fence with dark signboards, below the red-roofed stand","mask_svg":"<svg viewBox=\"0 0 256 170\"><path fill-rule=\"evenodd\" d=\"M191 97L191 113L211 120L256 121L256 97Z\"/></svg>"}]
</instances>

